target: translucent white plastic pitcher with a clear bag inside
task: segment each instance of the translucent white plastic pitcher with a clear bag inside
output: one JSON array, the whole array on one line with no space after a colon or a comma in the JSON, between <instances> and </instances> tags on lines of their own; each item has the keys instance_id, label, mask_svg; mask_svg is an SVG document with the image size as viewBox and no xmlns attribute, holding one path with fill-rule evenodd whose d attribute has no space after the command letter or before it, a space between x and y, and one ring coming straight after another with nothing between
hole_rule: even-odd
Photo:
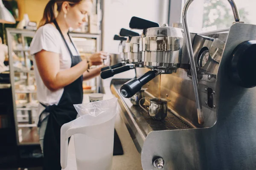
<instances>
[{"instance_id":1,"label":"translucent white plastic pitcher with a clear bag inside","mask_svg":"<svg viewBox=\"0 0 256 170\"><path fill-rule=\"evenodd\" d=\"M61 127L61 167L74 135L77 170L111 170L117 98L74 105L80 117Z\"/></svg>"}]
</instances>

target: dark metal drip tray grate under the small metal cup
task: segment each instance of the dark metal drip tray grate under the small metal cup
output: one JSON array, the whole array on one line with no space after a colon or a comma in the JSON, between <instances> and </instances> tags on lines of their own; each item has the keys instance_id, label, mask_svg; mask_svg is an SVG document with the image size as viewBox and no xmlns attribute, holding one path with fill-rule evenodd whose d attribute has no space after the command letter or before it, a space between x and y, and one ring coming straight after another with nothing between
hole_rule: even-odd
<instances>
[{"instance_id":1,"label":"dark metal drip tray grate under the small metal cup","mask_svg":"<svg viewBox=\"0 0 256 170\"><path fill-rule=\"evenodd\" d=\"M148 115L148 112L145 112L140 106L134 106L138 111L140 111L141 115L144 117L145 121L148 125L154 130L175 130L175 129L192 129L189 124L184 122L170 110L167 113L167 116L163 120L154 120L151 116ZM144 106L148 110L147 106Z\"/></svg>"}]
</instances>

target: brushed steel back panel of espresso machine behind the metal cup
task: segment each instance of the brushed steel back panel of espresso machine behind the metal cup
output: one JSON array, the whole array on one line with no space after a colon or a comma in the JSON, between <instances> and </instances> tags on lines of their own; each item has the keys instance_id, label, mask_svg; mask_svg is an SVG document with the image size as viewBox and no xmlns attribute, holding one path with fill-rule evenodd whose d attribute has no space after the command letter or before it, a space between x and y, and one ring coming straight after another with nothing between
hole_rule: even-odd
<instances>
[{"instance_id":1,"label":"brushed steel back panel of espresso machine behind the metal cup","mask_svg":"<svg viewBox=\"0 0 256 170\"><path fill-rule=\"evenodd\" d=\"M148 69L137 68L136 71L138 75L142 75L148 71ZM148 93L152 94L154 97L158 97L159 84L160 76L157 76L148 82L148 84L144 85L143 88L148 88ZM213 90L216 90L215 77L212 76L211 79L208 79L208 74L202 75L202 78L199 81L199 88L201 91L201 101L202 103L205 103L205 101L207 101L207 92L204 89L212 88ZM166 97L166 94L168 97ZM202 108L204 111L205 123L204 125L198 124L192 79L185 69L179 68L176 73L161 75L160 97L171 100L171 102L168 103L168 106L172 108L175 113L178 113L178 115L196 127L211 127L216 122L216 110L203 104ZM213 104L216 104L215 98L216 95L214 94Z\"/></svg>"}]
</instances>

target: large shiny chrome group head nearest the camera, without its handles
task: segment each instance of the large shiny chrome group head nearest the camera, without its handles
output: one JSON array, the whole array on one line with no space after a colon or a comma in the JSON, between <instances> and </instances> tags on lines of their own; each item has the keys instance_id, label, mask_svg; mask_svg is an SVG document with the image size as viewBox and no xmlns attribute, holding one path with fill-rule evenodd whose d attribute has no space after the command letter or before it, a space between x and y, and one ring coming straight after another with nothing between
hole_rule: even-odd
<instances>
[{"instance_id":1,"label":"large shiny chrome group head nearest the camera, without its handles","mask_svg":"<svg viewBox=\"0 0 256 170\"><path fill-rule=\"evenodd\" d=\"M183 30L180 28L168 26L147 28L143 30L140 38L144 66L163 73L170 74L172 71L168 72L168 70L179 67L182 48Z\"/></svg>"}]
</instances>

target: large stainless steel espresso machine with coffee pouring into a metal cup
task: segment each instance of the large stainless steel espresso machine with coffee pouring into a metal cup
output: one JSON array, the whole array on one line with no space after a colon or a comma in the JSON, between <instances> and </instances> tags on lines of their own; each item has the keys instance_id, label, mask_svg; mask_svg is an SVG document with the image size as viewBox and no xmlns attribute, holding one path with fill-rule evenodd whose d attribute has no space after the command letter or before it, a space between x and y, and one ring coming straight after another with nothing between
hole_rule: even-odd
<instances>
[{"instance_id":1,"label":"large stainless steel espresso machine with coffee pouring into a metal cup","mask_svg":"<svg viewBox=\"0 0 256 170\"><path fill-rule=\"evenodd\" d=\"M192 1L183 10L184 30L131 19L131 28L143 30L145 68L137 68L137 79L113 79L111 91L143 170L255 170L256 25L240 22L228 0L230 28L189 33ZM170 102L166 118L154 120L129 97L142 87L147 98L158 97L159 74L160 97Z\"/></svg>"}]
</instances>

